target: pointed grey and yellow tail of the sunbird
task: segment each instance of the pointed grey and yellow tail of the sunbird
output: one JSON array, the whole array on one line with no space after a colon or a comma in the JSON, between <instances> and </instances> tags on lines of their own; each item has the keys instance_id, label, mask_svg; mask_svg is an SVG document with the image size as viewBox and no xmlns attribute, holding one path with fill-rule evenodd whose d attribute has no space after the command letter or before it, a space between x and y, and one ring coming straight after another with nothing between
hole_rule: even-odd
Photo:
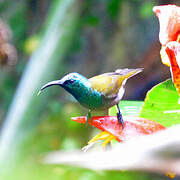
<instances>
[{"instance_id":1,"label":"pointed grey and yellow tail of the sunbird","mask_svg":"<svg viewBox=\"0 0 180 180\"><path fill-rule=\"evenodd\" d=\"M138 73L140 73L144 68L137 68L137 69L117 69L115 72L124 76L124 79L128 79Z\"/></svg>"}]
</instances>

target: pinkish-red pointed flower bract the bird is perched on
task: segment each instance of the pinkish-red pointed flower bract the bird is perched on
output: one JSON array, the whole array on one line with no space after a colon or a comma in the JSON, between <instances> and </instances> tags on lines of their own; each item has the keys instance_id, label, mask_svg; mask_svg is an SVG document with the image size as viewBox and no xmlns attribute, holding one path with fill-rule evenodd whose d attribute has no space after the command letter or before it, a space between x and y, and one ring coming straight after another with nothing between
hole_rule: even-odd
<instances>
[{"instance_id":1,"label":"pinkish-red pointed flower bract the bird is perched on","mask_svg":"<svg viewBox=\"0 0 180 180\"><path fill-rule=\"evenodd\" d=\"M109 132L120 142L166 129L161 124L139 117L124 116L123 119L124 128L119 124L116 116L92 117L92 121L89 120L89 124L102 131ZM78 123L86 123L85 116L73 117L72 120Z\"/></svg>"}]
</instances>

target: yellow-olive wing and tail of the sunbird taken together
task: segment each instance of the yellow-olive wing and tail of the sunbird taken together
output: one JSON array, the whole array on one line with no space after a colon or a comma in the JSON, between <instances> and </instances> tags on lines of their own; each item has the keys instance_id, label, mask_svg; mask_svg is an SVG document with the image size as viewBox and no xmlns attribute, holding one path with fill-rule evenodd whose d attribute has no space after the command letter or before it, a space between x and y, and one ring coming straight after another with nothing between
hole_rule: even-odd
<instances>
[{"instance_id":1,"label":"yellow-olive wing and tail of the sunbird taken together","mask_svg":"<svg viewBox=\"0 0 180 180\"><path fill-rule=\"evenodd\" d=\"M101 74L89 79L93 90L99 91L107 98L116 97L125 79L128 79L143 69L118 69L115 72Z\"/></svg>"}]
</instances>

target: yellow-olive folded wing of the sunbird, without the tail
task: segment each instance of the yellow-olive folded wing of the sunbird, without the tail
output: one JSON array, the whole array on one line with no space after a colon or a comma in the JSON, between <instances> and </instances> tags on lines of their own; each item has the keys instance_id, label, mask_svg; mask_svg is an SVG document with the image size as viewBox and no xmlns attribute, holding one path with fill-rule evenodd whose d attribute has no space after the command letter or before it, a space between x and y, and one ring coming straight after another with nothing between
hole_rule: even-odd
<instances>
[{"instance_id":1,"label":"yellow-olive folded wing of the sunbird, without the tail","mask_svg":"<svg viewBox=\"0 0 180 180\"><path fill-rule=\"evenodd\" d=\"M105 73L89 79L93 90L97 90L107 98L116 97L123 82L118 73Z\"/></svg>"}]
</instances>

